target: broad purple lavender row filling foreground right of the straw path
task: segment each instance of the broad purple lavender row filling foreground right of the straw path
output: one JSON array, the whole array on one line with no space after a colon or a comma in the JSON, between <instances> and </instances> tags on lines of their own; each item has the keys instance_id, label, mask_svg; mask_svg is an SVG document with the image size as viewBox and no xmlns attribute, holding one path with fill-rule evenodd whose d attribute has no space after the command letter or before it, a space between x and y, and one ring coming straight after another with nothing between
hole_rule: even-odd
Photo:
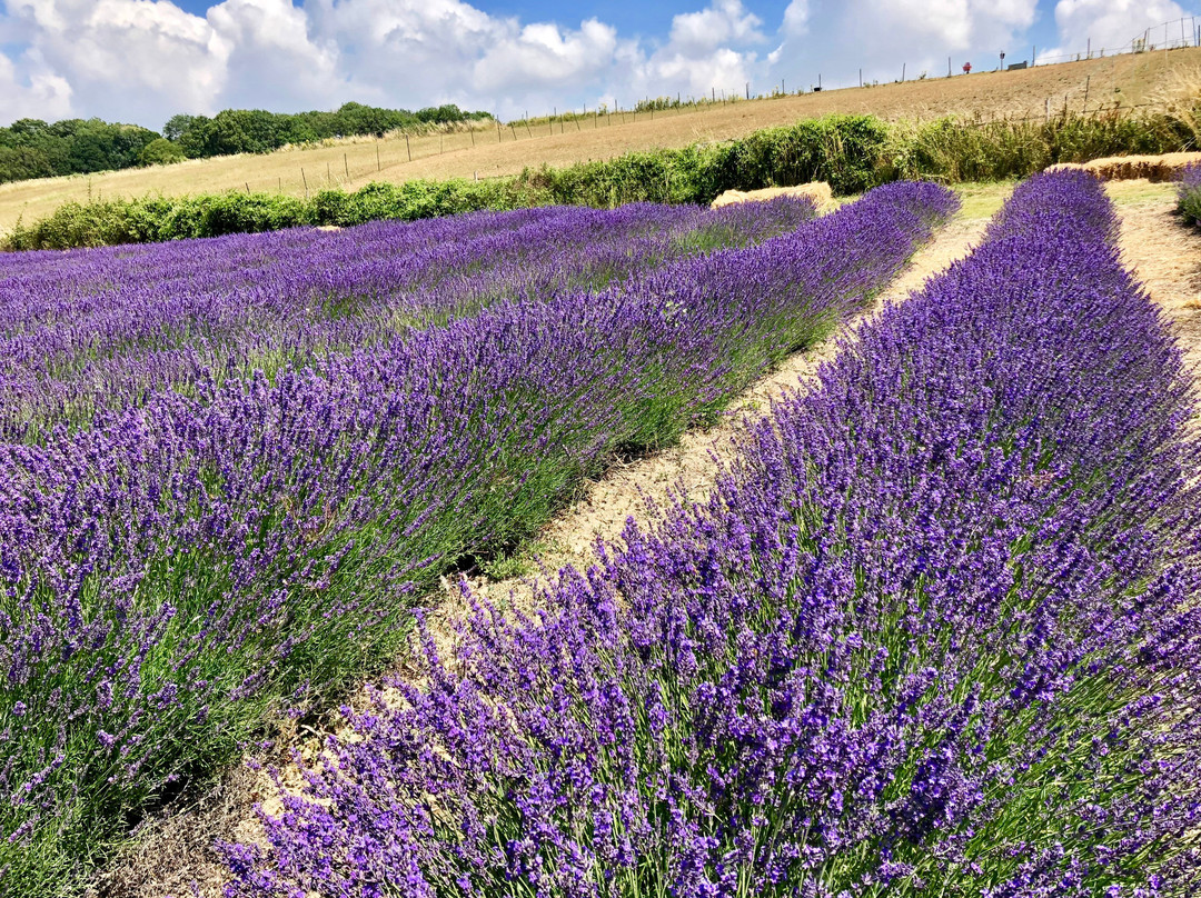
<instances>
[{"instance_id":1,"label":"broad purple lavender row filling foreground right of the straw path","mask_svg":"<svg viewBox=\"0 0 1201 898\"><path fill-rule=\"evenodd\" d=\"M347 710L228 893L1197 894L1201 447L1115 229L1018 187L706 507Z\"/></svg>"}]
</instances>

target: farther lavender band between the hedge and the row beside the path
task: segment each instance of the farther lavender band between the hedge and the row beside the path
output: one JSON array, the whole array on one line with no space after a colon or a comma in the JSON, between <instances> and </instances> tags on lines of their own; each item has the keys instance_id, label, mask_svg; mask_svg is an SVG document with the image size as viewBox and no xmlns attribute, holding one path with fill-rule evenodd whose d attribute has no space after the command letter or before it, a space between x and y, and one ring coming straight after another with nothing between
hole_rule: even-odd
<instances>
[{"instance_id":1,"label":"farther lavender band between the hedge and the row beside the path","mask_svg":"<svg viewBox=\"0 0 1201 898\"><path fill-rule=\"evenodd\" d=\"M274 373L502 299L600 289L759 243L811 203L477 214L0 258L0 438L36 442L148 393Z\"/></svg>"}]
</instances>

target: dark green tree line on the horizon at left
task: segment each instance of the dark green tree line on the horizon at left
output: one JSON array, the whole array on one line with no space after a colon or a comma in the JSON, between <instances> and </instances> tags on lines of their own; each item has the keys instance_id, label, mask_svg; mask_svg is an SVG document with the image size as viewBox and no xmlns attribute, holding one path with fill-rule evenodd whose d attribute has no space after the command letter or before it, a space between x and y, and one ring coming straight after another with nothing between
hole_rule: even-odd
<instances>
[{"instance_id":1,"label":"dark green tree line on the horizon at left","mask_svg":"<svg viewBox=\"0 0 1201 898\"><path fill-rule=\"evenodd\" d=\"M417 112L343 103L334 112L225 109L211 118L174 115L162 133L101 119L18 119L0 127L0 184L235 152L270 152L287 144L382 137L399 128L491 118L486 112L466 112L454 103Z\"/></svg>"}]
</instances>

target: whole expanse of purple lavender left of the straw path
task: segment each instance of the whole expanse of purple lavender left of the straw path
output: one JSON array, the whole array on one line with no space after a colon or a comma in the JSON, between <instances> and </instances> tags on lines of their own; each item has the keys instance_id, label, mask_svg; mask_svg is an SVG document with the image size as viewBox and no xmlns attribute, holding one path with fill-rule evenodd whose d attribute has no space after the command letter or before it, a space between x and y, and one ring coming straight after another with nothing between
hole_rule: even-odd
<instances>
[{"instance_id":1,"label":"whole expanse of purple lavender left of the straw path","mask_svg":"<svg viewBox=\"0 0 1201 898\"><path fill-rule=\"evenodd\" d=\"M393 657L442 573L713 420L955 206L898 184L824 217L0 257L0 892L73 891L160 796Z\"/></svg>"}]
</instances>

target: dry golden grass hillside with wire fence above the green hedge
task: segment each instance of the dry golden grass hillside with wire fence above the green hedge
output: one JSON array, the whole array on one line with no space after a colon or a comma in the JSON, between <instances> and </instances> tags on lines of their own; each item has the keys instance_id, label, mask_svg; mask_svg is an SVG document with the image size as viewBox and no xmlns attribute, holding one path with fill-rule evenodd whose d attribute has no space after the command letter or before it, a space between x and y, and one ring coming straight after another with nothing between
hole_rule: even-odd
<instances>
[{"instance_id":1,"label":"dry golden grass hillside with wire fence above the green hedge","mask_svg":"<svg viewBox=\"0 0 1201 898\"><path fill-rule=\"evenodd\" d=\"M504 126L452 134L340 142L263 156L226 156L174 166L100 175L73 175L0 185L0 232L24 216L34 221L67 200L89 197L165 196L225 190L282 192L303 197L325 186L355 188L370 180L479 178L516 174L526 166L570 164L623 152L685 146L741 137L830 113L873 113L884 119L948 114L1038 118L1047 108L1087 108L1166 102L1196 80L1201 49L1107 56L1018 72L976 72L820 94L740 101L650 114L631 113L584 121ZM1165 88L1169 85L1169 88ZM1176 92L1171 92L1171 85ZM378 154L378 155L377 155ZM412 161L410 161L410 154ZM301 176L301 170L304 172Z\"/></svg>"}]
</instances>

